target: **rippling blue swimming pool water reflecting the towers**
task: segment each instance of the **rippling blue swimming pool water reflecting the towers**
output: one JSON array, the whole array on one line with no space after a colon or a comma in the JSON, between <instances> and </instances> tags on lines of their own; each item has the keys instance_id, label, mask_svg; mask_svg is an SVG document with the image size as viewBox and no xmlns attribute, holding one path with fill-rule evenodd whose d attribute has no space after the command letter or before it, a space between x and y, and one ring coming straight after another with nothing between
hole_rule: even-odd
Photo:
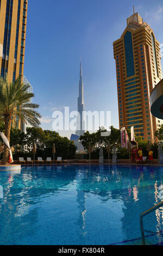
<instances>
[{"instance_id":1,"label":"rippling blue swimming pool water reflecting the towers","mask_svg":"<svg viewBox=\"0 0 163 256\"><path fill-rule=\"evenodd\" d=\"M141 244L139 215L161 202L159 166L35 166L1 172L0 245ZM1 188L2 188L1 187ZM1 190L0 190L1 191ZM163 208L144 218L161 244Z\"/></svg>"}]
</instances>

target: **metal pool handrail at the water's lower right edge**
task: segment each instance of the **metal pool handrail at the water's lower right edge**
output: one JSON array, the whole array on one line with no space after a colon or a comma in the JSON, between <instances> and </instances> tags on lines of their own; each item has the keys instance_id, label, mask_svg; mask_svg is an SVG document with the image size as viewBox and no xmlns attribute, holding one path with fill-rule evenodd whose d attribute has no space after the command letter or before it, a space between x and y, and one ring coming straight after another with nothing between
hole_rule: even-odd
<instances>
[{"instance_id":1,"label":"metal pool handrail at the water's lower right edge","mask_svg":"<svg viewBox=\"0 0 163 256\"><path fill-rule=\"evenodd\" d=\"M152 234L158 234L158 232L154 232L154 231L149 231L149 230L145 230L143 228L143 217L150 214L152 211L159 209L161 206L163 205L163 201L159 204L154 205L152 208L148 209L145 212L142 212L142 214L140 215L140 229L141 229L141 238L142 238L142 244L146 245L146 241L145 241L145 232L147 233L152 233Z\"/></svg>"}]
</instances>

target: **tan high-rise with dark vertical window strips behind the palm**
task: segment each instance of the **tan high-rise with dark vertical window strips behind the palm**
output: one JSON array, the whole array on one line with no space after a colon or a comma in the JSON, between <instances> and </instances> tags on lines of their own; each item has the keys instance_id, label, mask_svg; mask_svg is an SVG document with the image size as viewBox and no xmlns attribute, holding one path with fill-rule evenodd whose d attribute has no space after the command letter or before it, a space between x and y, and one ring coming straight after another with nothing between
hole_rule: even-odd
<instances>
[{"instance_id":1,"label":"tan high-rise with dark vertical window strips behind the palm","mask_svg":"<svg viewBox=\"0 0 163 256\"><path fill-rule=\"evenodd\" d=\"M0 0L1 77L12 82L23 76L28 0Z\"/></svg>"}]
</instances>

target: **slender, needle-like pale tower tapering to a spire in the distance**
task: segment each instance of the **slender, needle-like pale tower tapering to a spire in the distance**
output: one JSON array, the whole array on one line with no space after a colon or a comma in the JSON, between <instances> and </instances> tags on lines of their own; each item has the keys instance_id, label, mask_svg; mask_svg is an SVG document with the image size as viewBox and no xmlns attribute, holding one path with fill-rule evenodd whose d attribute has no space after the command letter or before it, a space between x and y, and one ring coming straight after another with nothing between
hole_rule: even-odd
<instances>
[{"instance_id":1,"label":"slender, needle-like pale tower tapering to a spire in the distance","mask_svg":"<svg viewBox=\"0 0 163 256\"><path fill-rule=\"evenodd\" d=\"M78 97L78 117L77 117L77 131L76 134L71 135L71 141L74 141L74 144L77 146L78 152L83 152L84 148L82 143L79 141L79 137L83 135L84 131L84 120L83 120L83 111L84 111L84 89L83 89L83 73L82 73L82 61L80 59L80 79L79 79L79 97Z\"/></svg>"}]
</instances>

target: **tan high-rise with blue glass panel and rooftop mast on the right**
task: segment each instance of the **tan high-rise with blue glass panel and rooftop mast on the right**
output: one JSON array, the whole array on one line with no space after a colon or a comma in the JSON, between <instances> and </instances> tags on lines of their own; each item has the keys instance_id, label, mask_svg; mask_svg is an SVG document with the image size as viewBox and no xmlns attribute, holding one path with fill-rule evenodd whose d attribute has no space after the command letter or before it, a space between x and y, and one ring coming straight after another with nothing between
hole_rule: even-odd
<instances>
[{"instance_id":1,"label":"tan high-rise with blue glass panel and rooftop mast on the right","mask_svg":"<svg viewBox=\"0 0 163 256\"><path fill-rule=\"evenodd\" d=\"M151 114L149 96L162 78L160 44L152 28L134 12L113 46L120 129L134 126L137 136L156 142L154 132L162 121Z\"/></svg>"}]
</instances>

